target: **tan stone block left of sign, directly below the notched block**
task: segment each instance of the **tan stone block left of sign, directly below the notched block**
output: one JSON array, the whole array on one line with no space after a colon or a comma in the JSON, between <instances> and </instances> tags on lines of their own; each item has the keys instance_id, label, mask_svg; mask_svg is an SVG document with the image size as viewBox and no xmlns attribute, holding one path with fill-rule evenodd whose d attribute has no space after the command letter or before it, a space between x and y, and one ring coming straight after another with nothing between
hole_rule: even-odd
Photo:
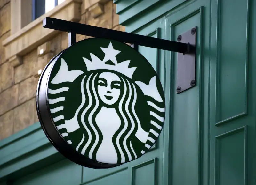
<instances>
[{"instance_id":1,"label":"tan stone block left of sign, directly below the notched block","mask_svg":"<svg viewBox=\"0 0 256 185\"><path fill-rule=\"evenodd\" d=\"M36 96L36 87L39 78L30 77L19 83L18 104Z\"/></svg>"}]
</instances>

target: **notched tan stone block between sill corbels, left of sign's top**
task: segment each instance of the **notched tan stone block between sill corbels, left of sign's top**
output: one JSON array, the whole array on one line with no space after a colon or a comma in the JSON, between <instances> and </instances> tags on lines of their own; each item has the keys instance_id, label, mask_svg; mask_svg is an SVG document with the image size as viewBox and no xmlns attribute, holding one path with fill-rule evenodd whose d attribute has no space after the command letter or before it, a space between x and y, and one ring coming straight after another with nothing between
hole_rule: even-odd
<instances>
[{"instance_id":1,"label":"notched tan stone block between sill corbels, left of sign's top","mask_svg":"<svg viewBox=\"0 0 256 185\"><path fill-rule=\"evenodd\" d=\"M23 57L23 64L14 69L14 83L33 76L37 64L37 49Z\"/></svg>"}]
</instances>

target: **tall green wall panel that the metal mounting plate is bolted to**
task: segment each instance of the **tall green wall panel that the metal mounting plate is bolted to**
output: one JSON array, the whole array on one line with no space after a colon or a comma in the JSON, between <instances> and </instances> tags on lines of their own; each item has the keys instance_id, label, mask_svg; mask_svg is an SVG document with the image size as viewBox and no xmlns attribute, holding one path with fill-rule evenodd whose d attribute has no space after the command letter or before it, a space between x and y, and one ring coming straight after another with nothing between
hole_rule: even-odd
<instances>
[{"instance_id":1,"label":"tall green wall panel that the metal mounting plate is bolted to","mask_svg":"<svg viewBox=\"0 0 256 185\"><path fill-rule=\"evenodd\" d=\"M200 32L202 8L190 4L166 18L166 38L177 41L178 35L197 26L196 86L176 94L177 53L167 55L166 68L172 69L171 114L171 184L197 185L199 182L200 109Z\"/></svg>"}]
</instances>

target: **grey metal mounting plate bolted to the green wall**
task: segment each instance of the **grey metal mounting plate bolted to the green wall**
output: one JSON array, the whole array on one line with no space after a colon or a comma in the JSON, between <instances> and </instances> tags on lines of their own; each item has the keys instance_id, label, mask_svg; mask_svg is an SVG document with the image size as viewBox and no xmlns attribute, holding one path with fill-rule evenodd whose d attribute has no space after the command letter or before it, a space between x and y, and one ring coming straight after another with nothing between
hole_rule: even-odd
<instances>
[{"instance_id":1,"label":"grey metal mounting plate bolted to the green wall","mask_svg":"<svg viewBox=\"0 0 256 185\"><path fill-rule=\"evenodd\" d=\"M178 36L178 42L196 47L196 27ZM196 49L195 49L196 50ZM177 93L196 85L196 52L177 53Z\"/></svg>"}]
</instances>

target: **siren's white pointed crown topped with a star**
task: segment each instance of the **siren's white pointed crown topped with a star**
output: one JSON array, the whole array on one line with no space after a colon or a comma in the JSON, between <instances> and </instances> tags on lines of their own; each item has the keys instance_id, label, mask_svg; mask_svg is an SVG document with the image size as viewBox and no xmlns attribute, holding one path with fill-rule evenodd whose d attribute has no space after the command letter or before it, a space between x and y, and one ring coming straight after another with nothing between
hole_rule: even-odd
<instances>
[{"instance_id":1,"label":"siren's white pointed crown topped with a star","mask_svg":"<svg viewBox=\"0 0 256 185\"><path fill-rule=\"evenodd\" d=\"M127 76L128 78L132 78L136 67L129 68L130 60L117 63L116 55L120 53L120 51L114 49L111 42L109 43L108 48L101 48L101 50L105 53L103 60L100 60L92 53L90 53L92 61L83 57L88 71L99 69L113 70ZM111 60L115 65L106 64L105 62L108 60Z\"/></svg>"}]
</instances>

